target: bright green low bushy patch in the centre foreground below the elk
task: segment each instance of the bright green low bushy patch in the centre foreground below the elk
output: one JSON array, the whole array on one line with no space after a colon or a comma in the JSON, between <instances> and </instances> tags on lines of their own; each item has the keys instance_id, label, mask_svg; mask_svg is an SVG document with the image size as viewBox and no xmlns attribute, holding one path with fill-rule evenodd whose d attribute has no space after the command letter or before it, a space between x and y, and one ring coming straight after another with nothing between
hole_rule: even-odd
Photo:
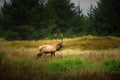
<instances>
[{"instance_id":1,"label":"bright green low bushy patch in the centre foreground below the elk","mask_svg":"<svg viewBox=\"0 0 120 80\"><path fill-rule=\"evenodd\" d=\"M51 71L81 70L84 68L84 64L80 58L66 58L49 62L48 68Z\"/></svg>"}]
</instances>

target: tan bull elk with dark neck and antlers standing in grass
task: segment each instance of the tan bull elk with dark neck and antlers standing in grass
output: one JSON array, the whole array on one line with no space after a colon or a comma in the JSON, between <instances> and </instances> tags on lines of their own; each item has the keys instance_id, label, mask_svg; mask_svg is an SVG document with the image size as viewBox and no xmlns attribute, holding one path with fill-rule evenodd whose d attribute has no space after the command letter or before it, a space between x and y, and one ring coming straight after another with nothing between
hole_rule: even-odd
<instances>
[{"instance_id":1,"label":"tan bull elk with dark neck and antlers standing in grass","mask_svg":"<svg viewBox=\"0 0 120 80\"><path fill-rule=\"evenodd\" d=\"M58 41L57 44L39 46L39 53L37 53L37 57L36 57L37 59L41 57L43 54L48 54L48 53L51 54L51 57L52 55L55 56L55 52L59 51L62 48L62 43L63 43L63 39L58 40L56 37L55 39Z\"/></svg>"}]
</instances>

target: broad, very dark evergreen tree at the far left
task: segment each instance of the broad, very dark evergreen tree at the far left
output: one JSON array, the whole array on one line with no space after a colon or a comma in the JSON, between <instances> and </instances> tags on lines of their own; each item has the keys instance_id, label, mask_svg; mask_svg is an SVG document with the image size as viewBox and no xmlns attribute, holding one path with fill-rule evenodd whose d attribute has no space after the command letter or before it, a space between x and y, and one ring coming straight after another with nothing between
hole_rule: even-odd
<instances>
[{"instance_id":1,"label":"broad, very dark evergreen tree at the far left","mask_svg":"<svg viewBox=\"0 0 120 80\"><path fill-rule=\"evenodd\" d=\"M43 25L42 14L44 14L43 0L5 1L0 14L0 24L3 31L1 35L4 38L14 36L14 39L15 36L16 39L29 39L29 36L34 37L33 33L36 32L35 30L40 30ZM24 36L29 33L29 36L26 35L24 37L21 33L24 33Z\"/></svg>"}]
</instances>

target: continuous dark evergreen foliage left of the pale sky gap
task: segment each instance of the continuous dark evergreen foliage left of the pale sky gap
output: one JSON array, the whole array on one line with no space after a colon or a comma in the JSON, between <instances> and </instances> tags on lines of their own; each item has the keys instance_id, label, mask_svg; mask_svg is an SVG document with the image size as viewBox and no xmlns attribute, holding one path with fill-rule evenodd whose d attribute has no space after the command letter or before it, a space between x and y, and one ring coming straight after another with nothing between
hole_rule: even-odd
<instances>
[{"instance_id":1,"label":"continuous dark evergreen foliage left of the pale sky gap","mask_svg":"<svg viewBox=\"0 0 120 80\"><path fill-rule=\"evenodd\" d=\"M81 33L84 20L70 0L10 0L1 7L0 36L7 40L51 38L53 33L71 37Z\"/></svg>"}]
</instances>

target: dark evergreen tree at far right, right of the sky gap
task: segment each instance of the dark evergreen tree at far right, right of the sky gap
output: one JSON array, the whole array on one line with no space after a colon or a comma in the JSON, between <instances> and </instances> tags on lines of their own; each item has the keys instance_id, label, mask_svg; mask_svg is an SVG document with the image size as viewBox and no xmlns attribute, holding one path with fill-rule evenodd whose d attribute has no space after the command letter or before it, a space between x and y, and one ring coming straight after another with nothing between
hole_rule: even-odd
<instances>
[{"instance_id":1,"label":"dark evergreen tree at far right, right of the sky gap","mask_svg":"<svg viewBox=\"0 0 120 80\"><path fill-rule=\"evenodd\" d=\"M100 0L94 8L93 26L98 35L120 36L120 1Z\"/></svg>"}]
</instances>

